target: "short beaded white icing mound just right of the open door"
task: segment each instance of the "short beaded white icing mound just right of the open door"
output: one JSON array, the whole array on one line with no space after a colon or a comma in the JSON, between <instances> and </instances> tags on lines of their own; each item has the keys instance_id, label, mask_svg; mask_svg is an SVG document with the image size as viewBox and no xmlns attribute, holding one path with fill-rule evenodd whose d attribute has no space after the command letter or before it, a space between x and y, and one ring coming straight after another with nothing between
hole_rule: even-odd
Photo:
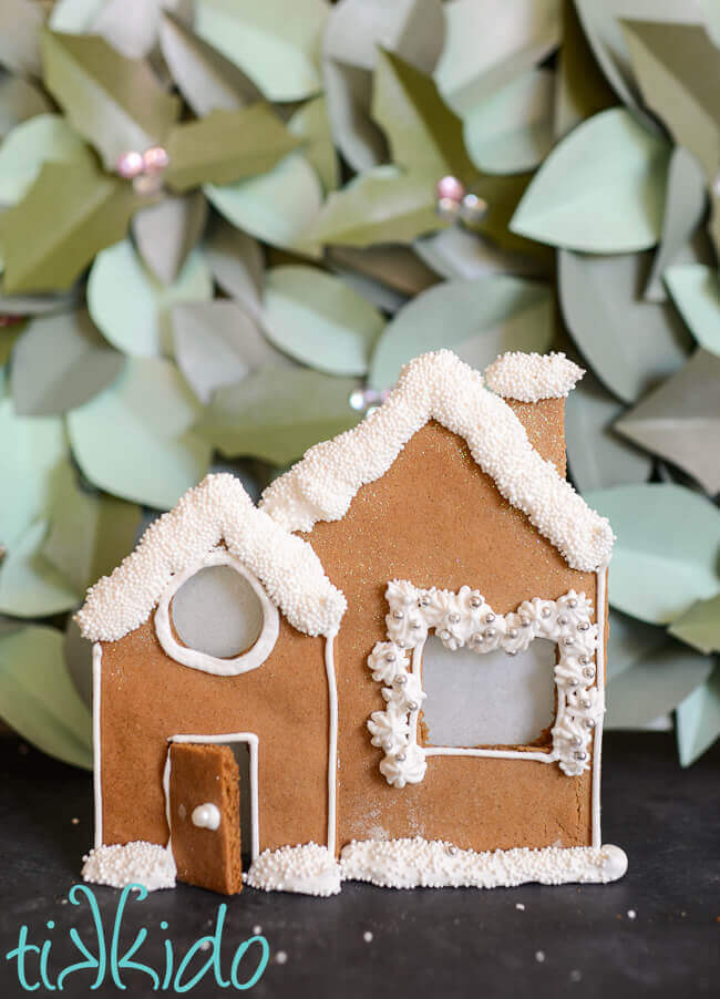
<instances>
[{"instance_id":1,"label":"short beaded white icing mound just right of the open door","mask_svg":"<svg viewBox=\"0 0 720 999\"><path fill-rule=\"evenodd\" d=\"M244 880L264 892L296 892L301 895L337 895L340 865L327 846L307 843L266 849L253 862Z\"/></svg>"}]
</instances>

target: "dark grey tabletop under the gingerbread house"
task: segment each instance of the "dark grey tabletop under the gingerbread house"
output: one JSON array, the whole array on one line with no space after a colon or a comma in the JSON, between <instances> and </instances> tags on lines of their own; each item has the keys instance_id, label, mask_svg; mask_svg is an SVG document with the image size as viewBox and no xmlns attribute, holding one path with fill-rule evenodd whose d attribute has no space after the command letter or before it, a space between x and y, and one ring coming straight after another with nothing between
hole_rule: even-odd
<instances>
[{"instance_id":1,"label":"dark grey tabletop under the gingerbread house","mask_svg":"<svg viewBox=\"0 0 720 999\"><path fill-rule=\"evenodd\" d=\"M52 941L49 977L79 961L75 927L93 951L86 903L68 893L92 837L88 774L14 739L0 741L0 996L23 996L16 962L21 925ZM225 971L261 927L270 961L257 997L695 997L720 995L720 746L681 771L667 733L606 738L604 840L629 856L607 886L392 892L347 884L330 899L246 889L229 899ZM119 893L95 888L110 941ZM210 931L219 896L179 886L128 905L121 944L141 927L135 956L162 972L164 940L179 960ZM632 917L634 916L634 917ZM54 926L47 928L48 920ZM167 928L161 924L166 923ZM95 948L96 949L96 948ZM93 951L94 952L94 951ZM207 951L197 955L200 967ZM29 959L35 980L37 956ZM240 967L250 971L249 957ZM62 995L93 995L79 971ZM162 978L162 976L161 976ZM125 995L152 995L150 976L124 971ZM162 983L162 981L161 981ZM172 993L172 992L171 992ZM188 995L234 995L205 978ZM39 988L35 996L48 995ZM94 995L120 995L110 980Z\"/></svg>"}]
</instances>

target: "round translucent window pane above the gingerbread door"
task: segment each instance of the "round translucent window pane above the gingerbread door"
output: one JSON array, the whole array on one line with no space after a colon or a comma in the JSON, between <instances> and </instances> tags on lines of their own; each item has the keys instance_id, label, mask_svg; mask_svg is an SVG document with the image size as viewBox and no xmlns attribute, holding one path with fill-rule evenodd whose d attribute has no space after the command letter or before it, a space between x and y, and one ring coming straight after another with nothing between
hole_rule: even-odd
<instances>
[{"instance_id":1,"label":"round translucent window pane above the gingerbread door","mask_svg":"<svg viewBox=\"0 0 720 999\"><path fill-rule=\"evenodd\" d=\"M263 628L263 606L230 566L207 566L184 583L171 606L184 645L217 659L247 651Z\"/></svg>"}]
</instances>

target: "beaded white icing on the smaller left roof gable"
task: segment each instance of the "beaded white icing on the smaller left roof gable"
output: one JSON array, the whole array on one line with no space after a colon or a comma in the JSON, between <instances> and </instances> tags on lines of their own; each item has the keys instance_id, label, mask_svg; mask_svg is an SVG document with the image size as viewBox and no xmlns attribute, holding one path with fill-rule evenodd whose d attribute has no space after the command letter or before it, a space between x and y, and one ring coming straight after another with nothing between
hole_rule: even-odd
<instances>
[{"instance_id":1,"label":"beaded white icing on the smaller left roof gable","mask_svg":"<svg viewBox=\"0 0 720 999\"><path fill-rule=\"evenodd\" d=\"M222 542L307 635L337 630L346 599L307 544L257 509L232 475L208 475L147 528L132 555L88 593L76 619L85 638L115 641L150 617L169 580Z\"/></svg>"}]
</instances>

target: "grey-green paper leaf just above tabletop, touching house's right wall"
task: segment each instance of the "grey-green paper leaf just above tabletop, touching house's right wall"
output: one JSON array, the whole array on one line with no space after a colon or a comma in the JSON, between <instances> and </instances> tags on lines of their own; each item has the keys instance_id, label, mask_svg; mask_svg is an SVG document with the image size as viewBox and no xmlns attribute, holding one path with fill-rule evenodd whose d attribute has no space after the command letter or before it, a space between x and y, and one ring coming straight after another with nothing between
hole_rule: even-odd
<instances>
[{"instance_id":1,"label":"grey-green paper leaf just above tabletop, touching house's right wall","mask_svg":"<svg viewBox=\"0 0 720 999\"><path fill-rule=\"evenodd\" d=\"M712 672L712 659L677 641L630 667L607 688L605 727L639 729L672 711Z\"/></svg>"}]
</instances>

